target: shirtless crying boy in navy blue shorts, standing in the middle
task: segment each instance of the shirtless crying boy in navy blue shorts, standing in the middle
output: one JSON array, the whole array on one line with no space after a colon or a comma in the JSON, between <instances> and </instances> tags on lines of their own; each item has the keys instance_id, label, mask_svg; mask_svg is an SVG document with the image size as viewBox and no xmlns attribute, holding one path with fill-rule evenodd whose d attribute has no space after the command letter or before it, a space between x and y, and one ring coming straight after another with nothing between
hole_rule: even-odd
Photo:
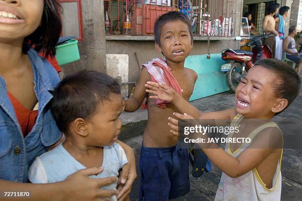
<instances>
[{"instance_id":1,"label":"shirtless crying boy in navy blue shorts, standing in the middle","mask_svg":"<svg viewBox=\"0 0 302 201\"><path fill-rule=\"evenodd\" d=\"M197 74L184 67L193 43L188 17L175 11L159 17L154 25L154 40L156 50L164 55L168 71L183 91L182 97L189 101ZM151 74L143 65L134 94L126 100L126 112L136 111L142 105L147 81L151 81ZM190 190L187 150L177 146L178 137L167 126L168 117L174 112L179 110L173 104L166 103L163 109L148 97L148 121L140 157L140 201L142 197L145 201L167 201Z\"/></svg>"}]
</instances>

